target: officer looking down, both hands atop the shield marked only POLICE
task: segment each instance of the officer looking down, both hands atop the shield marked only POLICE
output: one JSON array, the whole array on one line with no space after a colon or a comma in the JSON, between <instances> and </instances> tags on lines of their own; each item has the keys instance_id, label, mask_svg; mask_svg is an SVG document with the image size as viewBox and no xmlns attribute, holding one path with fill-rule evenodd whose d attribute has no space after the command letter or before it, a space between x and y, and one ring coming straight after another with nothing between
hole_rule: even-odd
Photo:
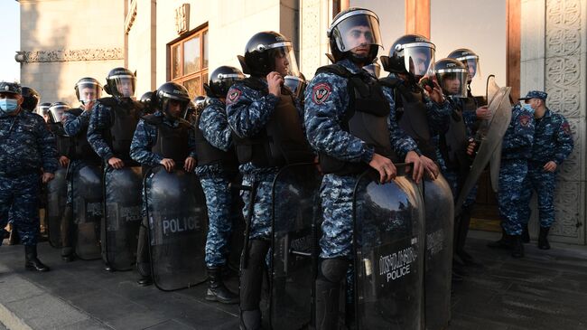
<instances>
[{"instance_id":1,"label":"officer looking down, both hands atop the shield marked only POLICE","mask_svg":"<svg viewBox=\"0 0 587 330\"><path fill-rule=\"evenodd\" d=\"M152 115L141 118L136 125L130 156L144 167L163 165L172 172L176 165L182 165L186 172L196 165L196 150L193 129L181 118L182 109L190 102L188 91L175 82L165 82L155 92L156 108ZM153 101L153 100L152 100ZM182 137L186 137L182 141ZM145 173L145 171L144 171ZM142 276L141 286L153 283L149 260L148 223L146 200L143 192L143 224L139 230L136 251L136 268Z\"/></svg>"}]
</instances>

